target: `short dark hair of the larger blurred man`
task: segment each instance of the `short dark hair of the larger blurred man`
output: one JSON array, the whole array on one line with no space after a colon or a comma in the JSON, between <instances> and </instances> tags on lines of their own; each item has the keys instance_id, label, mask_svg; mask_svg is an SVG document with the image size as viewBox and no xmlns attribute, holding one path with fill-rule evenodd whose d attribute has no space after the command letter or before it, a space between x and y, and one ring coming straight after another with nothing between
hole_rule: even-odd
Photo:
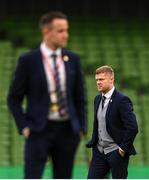
<instances>
[{"instance_id":1,"label":"short dark hair of the larger blurred man","mask_svg":"<svg viewBox=\"0 0 149 180\"><path fill-rule=\"evenodd\" d=\"M54 19L66 19L67 16L59 11L53 11L46 13L41 16L40 21L39 21L39 27L42 29L45 25L49 25Z\"/></svg>"}]
</instances>

